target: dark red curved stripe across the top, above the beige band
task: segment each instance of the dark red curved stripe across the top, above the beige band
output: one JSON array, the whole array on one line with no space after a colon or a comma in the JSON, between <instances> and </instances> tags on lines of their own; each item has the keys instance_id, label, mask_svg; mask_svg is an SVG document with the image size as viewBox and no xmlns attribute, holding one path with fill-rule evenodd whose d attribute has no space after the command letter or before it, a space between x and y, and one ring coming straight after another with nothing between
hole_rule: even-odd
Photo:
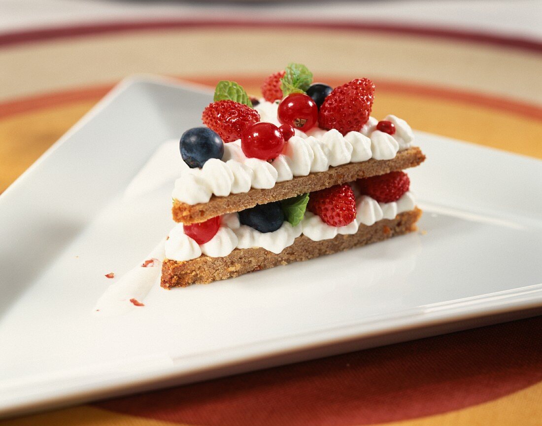
<instances>
[{"instance_id":1,"label":"dark red curved stripe across the top, above the beige band","mask_svg":"<svg viewBox=\"0 0 542 426\"><path fill-rule=\"evenodd\" d=\"M38 41L56 40L64 37L78 37L85 35L121 33L123 31L140 31L152 29L189 29L195 27L242 27L242 28L288 28L292 29L291 22L279 21L227 21L227 20L164 20L164 21L137 21L113 22L68 27L55 27L14 31L0 34L0 47L14 44ZM444 39L454 39L464 42L492 44L493 46L516 48L529 52L542 54L542 43L524 37L499 36L478 31L443 29L436 27L419 27L390 25L370 22L295 22L296 28L330 29L371 31L375 33L401 34L414 36L430 36Z\"/></svg>"}]
</instances>

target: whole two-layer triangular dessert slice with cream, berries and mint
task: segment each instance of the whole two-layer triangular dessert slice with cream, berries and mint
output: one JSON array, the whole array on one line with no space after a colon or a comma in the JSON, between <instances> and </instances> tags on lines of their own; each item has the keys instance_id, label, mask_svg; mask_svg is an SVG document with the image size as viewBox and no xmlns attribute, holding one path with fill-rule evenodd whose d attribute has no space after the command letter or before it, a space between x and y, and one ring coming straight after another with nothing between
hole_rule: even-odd
<instances>
[{"instance_id":1,"label":"whole two-layer triangular dessert slice with cream, berries and mint","mask_svg":"<svg viewBox=\"0 0 542 426\"><path fill-rule=\"evenodd\" d=\"M312 84L299 64L251 100L221 81L205 126L180 139L162 287L210 283L384 240L421 211L403 169L424 161L410 126L370 116L375 86Z\"/></svg>"}]
</instances>

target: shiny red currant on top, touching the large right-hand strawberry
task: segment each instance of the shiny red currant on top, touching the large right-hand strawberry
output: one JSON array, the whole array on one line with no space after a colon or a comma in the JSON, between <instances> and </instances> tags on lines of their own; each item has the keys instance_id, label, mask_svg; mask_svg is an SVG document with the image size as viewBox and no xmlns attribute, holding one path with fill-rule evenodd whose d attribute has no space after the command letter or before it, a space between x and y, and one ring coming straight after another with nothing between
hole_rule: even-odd
<instances>
[{"instance_id":1,"label":"shiny red currant on top, touching the large right-hand strawberry","mask_svg":"<svg viewBox=\"0 0 542 426\"><path fill-rule=\"evenodd\" d=\"M318 122L318 106L305 93L292 93L282 99L278 110L279 121L306 132Z\"/></svg>"}]
</instances>

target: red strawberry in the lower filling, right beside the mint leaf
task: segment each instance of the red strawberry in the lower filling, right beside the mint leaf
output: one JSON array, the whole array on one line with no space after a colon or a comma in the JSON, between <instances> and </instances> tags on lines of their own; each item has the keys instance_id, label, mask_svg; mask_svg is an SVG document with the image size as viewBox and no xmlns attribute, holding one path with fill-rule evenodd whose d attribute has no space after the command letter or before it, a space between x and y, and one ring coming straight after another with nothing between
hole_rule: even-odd
<instances>
[{"instance_id":1,"label":"red strawberry in the lower filling, right beside the mint leaf","mask_svg":"<svg viewBox=\"0 0 542 426\"><path fill-rule=\"evenodd\" d=\"M344 226L356 219L356 196L348 183L335 185L311 192L307 208L328 225Z\"/></svg>"}]
</instances>

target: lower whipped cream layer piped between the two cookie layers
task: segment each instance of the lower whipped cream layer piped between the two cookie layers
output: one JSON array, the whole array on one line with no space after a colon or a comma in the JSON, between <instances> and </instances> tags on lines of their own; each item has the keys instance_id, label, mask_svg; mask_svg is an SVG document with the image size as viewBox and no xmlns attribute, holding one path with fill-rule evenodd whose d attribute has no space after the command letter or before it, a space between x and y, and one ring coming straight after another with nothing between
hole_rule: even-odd
<instances>
[{"instance_id":1,"label":"lower whipped cream layer piped between the two cookie layers","mask_svg":"<svg viewBox=\"0 0 542 426\"><path fill-rule=\"evenodd\" d=\"M337 234L355 234L360 225L371 226L381 219L394 219L397 214L414 209L416 202L411 192L406 192L394 202L379 203L367 195L356 196L357 215L345 226L327 225L318 215L309 211L299 225L284 222L273 232L256 231L241 225L237 213L222 216L221 226L214 237L205 244L197 244L183 232L183 224L177 224L165 242L165 257L182 262L196 259L202 254L210 257L228 256L234 249L263 247L273 253L280 253L294 243L294 239L304 234L313 241L331 239Z\"/></svg>"}]
</instances>

